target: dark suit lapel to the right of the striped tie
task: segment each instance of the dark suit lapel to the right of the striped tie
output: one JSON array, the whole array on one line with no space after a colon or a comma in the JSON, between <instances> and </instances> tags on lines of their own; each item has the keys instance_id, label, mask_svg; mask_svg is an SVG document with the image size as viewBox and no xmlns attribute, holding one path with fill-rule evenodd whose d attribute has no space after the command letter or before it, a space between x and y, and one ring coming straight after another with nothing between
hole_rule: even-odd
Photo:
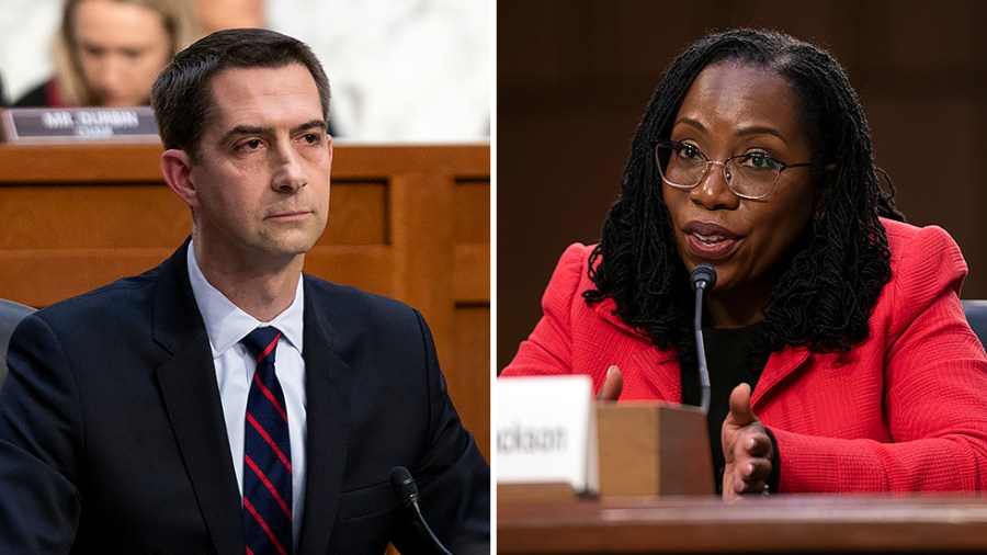
<instances>
[{"instance_id":1,"label":"dark suit lapel to the right of the striped tie","mask_svg":"<svg viewBox=\"0 0 987 555\"><path fill-rule=\"evenodd\" d=\"M351 369L332 351L336 332L324 309L327 305L336 303L316 298L306 279L303 358L308 432L299 554L326 553L329 548L349 443Z\"/></svg>"}]
</instances>

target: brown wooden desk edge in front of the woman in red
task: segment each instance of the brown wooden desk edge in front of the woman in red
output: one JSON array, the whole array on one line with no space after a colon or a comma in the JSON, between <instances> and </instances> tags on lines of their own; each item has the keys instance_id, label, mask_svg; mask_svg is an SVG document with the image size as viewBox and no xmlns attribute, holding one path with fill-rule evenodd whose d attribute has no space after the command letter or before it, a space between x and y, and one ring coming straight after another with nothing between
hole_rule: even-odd
<instances>
[{"instance_id":1,"label":"brown wooden desk edge in front of the woman in red","mask_svg":"<svg viewBox=\"0 0 987 555\"><path fill-rule=\"evenodd\" d=\"M497 552L987 553L987 497L666 497L498 503Z\"/></svg>"}]
</instances>

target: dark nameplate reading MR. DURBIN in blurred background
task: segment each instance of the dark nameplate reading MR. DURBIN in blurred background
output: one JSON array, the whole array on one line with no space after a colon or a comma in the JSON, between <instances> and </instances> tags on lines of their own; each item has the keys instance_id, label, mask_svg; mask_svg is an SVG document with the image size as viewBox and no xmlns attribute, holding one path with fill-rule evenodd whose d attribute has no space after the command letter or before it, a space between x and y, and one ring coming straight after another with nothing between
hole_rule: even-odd
<instances>
[{"instance_id":1,"label":"dark nameplate reading MR. DURBIN in blurred background","mask_svg":"<svg viewBox=\"0 0 987 555\"><path fill-rule=\"evenodd\" d=\"M150 107L14 107L0 116L5 143L159 143Z\"/></svg>"}]
</instances>

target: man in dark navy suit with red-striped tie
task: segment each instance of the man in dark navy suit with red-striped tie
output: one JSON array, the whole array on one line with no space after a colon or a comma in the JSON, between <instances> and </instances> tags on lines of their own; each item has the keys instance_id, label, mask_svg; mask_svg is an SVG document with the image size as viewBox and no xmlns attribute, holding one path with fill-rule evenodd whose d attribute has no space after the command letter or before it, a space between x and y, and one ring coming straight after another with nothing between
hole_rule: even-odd
<instances>
[{"instance_id":1,"label":"man in dark navy suit with red-striped tie","mask_svg":"<svg viewBox=\"0 0 987 555\"><path fill-rule=\"evenodd\" d=\"M302 273L332 161L311 52L215 33L152 105L191 239L14 332L0 553L431 552L396 466L452 552L489 551L489 468L421 316Z\"/></svg>"}]
</instances>

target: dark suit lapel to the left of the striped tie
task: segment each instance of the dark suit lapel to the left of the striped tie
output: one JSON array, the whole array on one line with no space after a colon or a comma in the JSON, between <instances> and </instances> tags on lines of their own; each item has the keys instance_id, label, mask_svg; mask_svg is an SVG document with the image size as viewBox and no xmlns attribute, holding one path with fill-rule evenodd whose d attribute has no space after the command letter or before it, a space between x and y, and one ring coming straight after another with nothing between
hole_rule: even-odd
<instances>
[{"instance_id":1,"label":"dark suit lapel to the left of the striped tie","mask_svg":"<svg viewBox=\"0 0 987 555\"><path fill-rule=\"evenodd\" d=\"M203 519L220 554L243 553L240 492L208 336L192 295L186 242L161 264L154 337L172 358L157 372L164 407Z\"/></svg>"}]
</instances>

